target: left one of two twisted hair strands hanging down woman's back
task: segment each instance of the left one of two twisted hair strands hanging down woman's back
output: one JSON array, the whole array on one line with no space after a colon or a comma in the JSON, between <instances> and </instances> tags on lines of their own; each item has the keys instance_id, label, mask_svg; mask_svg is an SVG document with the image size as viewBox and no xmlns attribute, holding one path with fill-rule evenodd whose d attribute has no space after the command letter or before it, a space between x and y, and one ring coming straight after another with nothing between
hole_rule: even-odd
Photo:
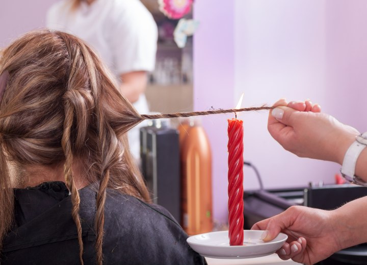
<instances>
[{"instance_id":1,"label":"left one of two twisted hair strands hanging down woman's back","mask_svg":"<svg viewBox=\"0 0 367 265\"><path fill-rule=\"evenodd\" d=\"M79 192L75 187L75 182L73 178L73 172L72 172L73 154L70 142L70 130L73 123L73 115L74 115L73 113L74 109L72 105L68 100L65 100L64 133L61 141L61 145L65 153L64 175L66 186L68 187L71 193L71 203L72 203L71 216L75 222L77 229L78 243L79 243L79 258L81 264L83 265L84 262L83 262L82 224L79 216L80 197Z\"/></svg>"}]
</instances>

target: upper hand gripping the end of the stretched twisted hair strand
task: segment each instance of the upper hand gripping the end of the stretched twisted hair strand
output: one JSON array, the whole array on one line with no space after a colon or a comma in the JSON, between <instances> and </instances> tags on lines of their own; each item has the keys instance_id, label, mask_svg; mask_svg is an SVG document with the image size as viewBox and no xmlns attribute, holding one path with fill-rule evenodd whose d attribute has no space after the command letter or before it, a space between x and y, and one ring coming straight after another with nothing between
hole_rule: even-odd
<instances>
[{"instance_id":1,"label":"upper hand gripping the end of the stretched twisted hair strand","mask_svg":"<svg viewBox=\"0 0 367 265\"><path fill-rule=\"evenodd\" d=\"M300 157L343 163L344 155L359 135L348 125L321 113L318 104L284 99L274 104L269 114L268 130L284 149Z\"/></svg>"}]
</instances>

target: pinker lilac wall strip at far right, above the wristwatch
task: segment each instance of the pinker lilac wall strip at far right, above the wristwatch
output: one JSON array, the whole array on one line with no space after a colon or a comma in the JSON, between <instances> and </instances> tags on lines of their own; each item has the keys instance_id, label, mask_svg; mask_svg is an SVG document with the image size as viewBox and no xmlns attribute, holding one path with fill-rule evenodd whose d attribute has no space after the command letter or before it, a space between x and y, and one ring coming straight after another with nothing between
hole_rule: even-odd
<instances>
[{"instance_id":1,"label":"pinker lilac wall strip at far right, above the wristwatch","mask_svg":"<svg viewBox=\"0 0 367 265\"><path fill-rule=\"evenodd\" d=\"M330 113L367 130L367 1L326 2L327 94Z\"/></svg>"}]
</instances>

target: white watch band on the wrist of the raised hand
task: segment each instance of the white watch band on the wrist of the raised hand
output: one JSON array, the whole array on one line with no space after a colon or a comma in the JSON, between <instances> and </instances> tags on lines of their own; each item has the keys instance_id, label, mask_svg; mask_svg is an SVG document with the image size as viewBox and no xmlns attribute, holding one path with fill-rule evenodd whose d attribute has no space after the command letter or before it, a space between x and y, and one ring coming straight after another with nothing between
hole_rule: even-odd
<instances>
[{"instance_id":1,"label":"white watch band on the wrist of the raised hand","mask_svg":"<svg viewBox=\"0 0 367 265\"><path fill-rule=\"evenodd\" d=\"M366 146L367 146L367 132L356 137L356 140L348 148L344 156L342 169L340 169L340 172L342 173L345 179L362 186L367 186L367 183L362 179L360 179L359 177L355 176L354 173L358 156Z\"/></svg>"}]
</instances>

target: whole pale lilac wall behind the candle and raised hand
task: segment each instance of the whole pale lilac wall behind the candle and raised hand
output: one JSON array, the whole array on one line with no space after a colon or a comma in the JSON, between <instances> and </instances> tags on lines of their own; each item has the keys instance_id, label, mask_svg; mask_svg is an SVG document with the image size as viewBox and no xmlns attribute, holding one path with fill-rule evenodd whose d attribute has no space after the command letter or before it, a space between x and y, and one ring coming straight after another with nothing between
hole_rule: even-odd
<instances>
[{"instance_id":1,"label":"whole pale lilac wall behind the candle and raised hand","mask_svg":"<svg viewBox=\"0 0 367 265\"><path fill-rule=\"evenodd\" d=\"M195 110L311 98L323 111L365 131L367 2L364 0L219 0L195 2ZM234 28L231 28L234 26ZM244 158L266 188L332 183L339 166L299 158L267 131L267 112L241 114ZM213 149L214 218L227 220L226 118L203 119ZM245 189L258 187L245 169Z\"/></svg>"}]
</instances>

